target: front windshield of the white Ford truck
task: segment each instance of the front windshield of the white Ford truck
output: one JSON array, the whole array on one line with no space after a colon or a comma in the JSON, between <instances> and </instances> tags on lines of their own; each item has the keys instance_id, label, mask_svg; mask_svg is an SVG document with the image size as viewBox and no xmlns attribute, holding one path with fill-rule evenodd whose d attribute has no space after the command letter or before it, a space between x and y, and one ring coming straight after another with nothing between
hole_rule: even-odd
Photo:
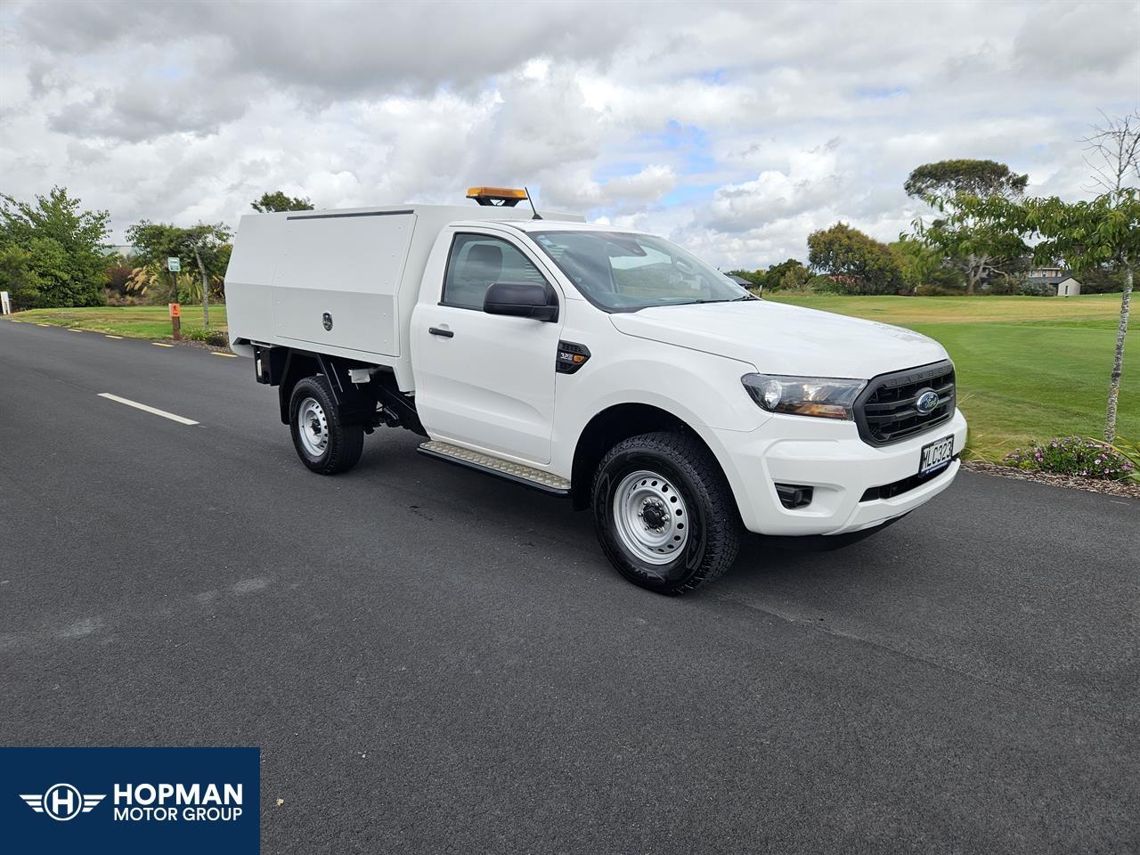
<instances>
[{"instance_id":1,"label":"front windshield of the white Ford truck","mask_svg":"<svg viewBox=\"0 0 1140 855\"><path fill-rule=\"evenodd\" d=\"M724 274L659 237L571 230L531 231L530 237L583 296L605 311L755 299Z\"/></svg>"}]
</instances>

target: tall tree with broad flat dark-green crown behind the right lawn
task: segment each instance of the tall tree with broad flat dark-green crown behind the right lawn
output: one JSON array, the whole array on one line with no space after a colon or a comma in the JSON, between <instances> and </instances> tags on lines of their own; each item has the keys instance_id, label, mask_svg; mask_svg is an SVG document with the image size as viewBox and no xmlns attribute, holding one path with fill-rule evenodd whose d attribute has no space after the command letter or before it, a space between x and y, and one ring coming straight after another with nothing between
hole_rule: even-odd
<instances>
[{"instance_id":1,"label":"tall tree with broad flat dark-green crown behind the right lawn","mask_svg":"<svg viewBox=\"0 0 1140 855\"><path fill-rule=\"evenodd\" d=\"M958 199L963 197L1020 198L1028 181L1028 176L1012 172L1004 163L953 160L915 168L903 189L907 196L923 199L940 213L953 213ZM936 220L930 227L917 220L915 230L959 266L966 275L967 294L972 294L980 283L993 276L1009 275L1009 267L1018 256L1010 254L1007 235L962 218L952 221L953 228L947 220Z\"/></svg>"}]
</instances>

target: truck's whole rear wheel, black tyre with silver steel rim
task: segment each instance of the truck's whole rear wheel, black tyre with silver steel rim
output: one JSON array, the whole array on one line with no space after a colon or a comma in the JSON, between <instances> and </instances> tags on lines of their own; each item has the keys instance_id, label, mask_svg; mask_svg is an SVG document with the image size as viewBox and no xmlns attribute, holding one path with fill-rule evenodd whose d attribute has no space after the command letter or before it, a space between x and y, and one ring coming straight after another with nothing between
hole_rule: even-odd
<instances>
[{"instance_id":1,"label":"truck's whole rear wheel, black tyre with silver steel rim","mask_svg":"<svg viewBox=\"0 0 1140 855\"><path fill-rule=\"evenodd\" d=\"M344 424L328 388L318 374L293 386L288 404L288 426L301 463L321 475L347 472L364 450L364 425Z\"/></svg>"}]
</instances>

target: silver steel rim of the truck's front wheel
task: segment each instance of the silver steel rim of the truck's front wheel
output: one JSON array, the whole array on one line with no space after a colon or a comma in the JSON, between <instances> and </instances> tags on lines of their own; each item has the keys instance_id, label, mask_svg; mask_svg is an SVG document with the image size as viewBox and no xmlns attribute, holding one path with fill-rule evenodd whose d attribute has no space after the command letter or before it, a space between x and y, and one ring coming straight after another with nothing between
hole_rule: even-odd
<instances>
[{"instance_id":1,"label":"silver steel rim of the truck's front wheel","mask_svg":"<svg viewBox=\"0 0 1140 855\"><path fill-rule=\"evenodd\" d=\"M613 491L613 524L621 545L648 564L668 564L689 543L689 508L673 482L638 470Z\"/></svg>"}]
</instances>

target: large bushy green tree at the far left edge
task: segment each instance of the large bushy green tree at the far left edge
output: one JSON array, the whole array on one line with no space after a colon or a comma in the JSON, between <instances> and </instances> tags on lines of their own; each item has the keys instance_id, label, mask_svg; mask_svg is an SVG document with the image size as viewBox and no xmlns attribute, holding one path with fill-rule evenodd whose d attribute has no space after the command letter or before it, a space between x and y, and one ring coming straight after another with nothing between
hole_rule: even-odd
<instances>
[{"instance_id":1,"label":"large bushy green tree at the far left edge","mask_svg":"<svg viewBox=\"0 0 1140 855\"><path fill-rule=\"evenodd\" d=\"M109 214L84 211L81 204L64 187L52 187L34 203L0 195L3 275L22 283L23 299L32 306L103 303ZM15 286L6 290L15 292Z\"/></svg>"}]
</instances>

